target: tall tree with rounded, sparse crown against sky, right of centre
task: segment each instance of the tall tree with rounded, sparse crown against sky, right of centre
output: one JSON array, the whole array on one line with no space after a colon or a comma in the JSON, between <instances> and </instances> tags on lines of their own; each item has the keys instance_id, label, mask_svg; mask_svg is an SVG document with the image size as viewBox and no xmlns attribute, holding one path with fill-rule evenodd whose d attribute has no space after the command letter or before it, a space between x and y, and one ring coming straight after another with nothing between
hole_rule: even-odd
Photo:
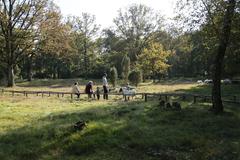
<instances>
[{"instance_id":1,"label":"tall tree with rounded, sparse crown against sky, right of centre","mask_svg":"<svg viewBox=\"0 0 240 160\"><path fill-rule=\"evenodd\" d=\"M135 63L146 47L151 33L163 27L163 17L145 5L131 5L119 10L114 19L117 32L127 42L126 52Z\"/></svg>"}]
</instances>

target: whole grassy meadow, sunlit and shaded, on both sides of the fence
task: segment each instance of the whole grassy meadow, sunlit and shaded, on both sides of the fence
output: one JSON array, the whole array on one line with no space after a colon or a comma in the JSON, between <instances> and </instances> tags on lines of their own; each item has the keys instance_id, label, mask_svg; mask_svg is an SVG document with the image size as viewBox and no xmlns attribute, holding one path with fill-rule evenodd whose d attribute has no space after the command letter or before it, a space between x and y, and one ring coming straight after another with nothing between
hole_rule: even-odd
<instances>
[{"instance_id":1,"label":"whole grassy meadow, sunlit and shaded, on both sides of the fence","mask_svg":"<svg viewBox=\"0 0 240 160\"><path fill-rule=\"evenodd\" d=\"M16 90L69 91L76 80L19 82ZM80 81L84 88L85 81ZM100 85L96 81L96 85ZM209 94L191 82L143 83L139 92ZM223 86L240 95L238 85ZM176 99L177 100L177 99ZM124 102L70 97L0 95L1 160L239 160L240 106L209 112L209 103L181 101L182 111L166 111L158 99ZM73 128L88 121L82 131Z\"/></svg>"}]
</instances>

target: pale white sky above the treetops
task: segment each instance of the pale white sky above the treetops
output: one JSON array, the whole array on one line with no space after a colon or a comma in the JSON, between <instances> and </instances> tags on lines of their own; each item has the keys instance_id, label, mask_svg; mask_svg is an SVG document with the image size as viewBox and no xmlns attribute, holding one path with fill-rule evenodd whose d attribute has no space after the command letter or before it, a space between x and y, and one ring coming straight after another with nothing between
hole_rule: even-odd
<instances>
[{"instance_id":1,"label":"pale white sky above the treetops","mask_svg":"<svg viewBox=\"0 0 240 160\"><path fill-rule=\"evenodd\" d=\"M118 15L120 8L133 3L145 4L166 17L172 17L176 0L54 0L64 16L80 16L87 12L96 16L97 24L102 28L113 26L113 18Z\"/></svg>"}]
</instances>

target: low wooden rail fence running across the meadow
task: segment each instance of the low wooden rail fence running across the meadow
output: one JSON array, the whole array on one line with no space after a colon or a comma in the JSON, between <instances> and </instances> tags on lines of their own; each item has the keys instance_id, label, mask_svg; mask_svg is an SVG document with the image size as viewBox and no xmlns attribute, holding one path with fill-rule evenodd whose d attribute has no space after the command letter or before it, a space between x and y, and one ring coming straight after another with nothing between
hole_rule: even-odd
<instances>
[{"instance_id":1,"label":"low wooden rail fence running across the meadow","mask_svg":"<svg viewBox=\"0 0 240 160\"><path fill-rule=\"evenodd\" d=\"M4 93L10 93L12 96L15 94L22 94L25 97L28 97L28 95L36 95L36 96L48 96L56 95L57 97L64 97L64 96L70 96L71 99L73 99L74 93L71 92L53 92L53 91L17 91L17 90L5 90L2 89L2 94ZM80 93L81 95L87 95L86 93ZM95 97L95 93L93 93L93 97ZM101 93L100 95L103 95ZM123 96L125 101L129 100L129 97L132 95L123 95L122 93L108 93L108 95L115 95L115 96ZM199 94L187 94L187 93L136 93L135 95L141 96L142 99L144 99L145 102L149 100L151 97L158 97L158 99L164 99L165 101L168 101L170 97L180 97L182 100L186 100L187 98L191 98L193 100L193 103L197 103L198 100L202 100L204 102L211 102L212 96L211 95L199 95ZM227 95L223 97L223 102L226 103L236 103L240 104L239 98L235 95Z\"/></svg>"}]
</instances>

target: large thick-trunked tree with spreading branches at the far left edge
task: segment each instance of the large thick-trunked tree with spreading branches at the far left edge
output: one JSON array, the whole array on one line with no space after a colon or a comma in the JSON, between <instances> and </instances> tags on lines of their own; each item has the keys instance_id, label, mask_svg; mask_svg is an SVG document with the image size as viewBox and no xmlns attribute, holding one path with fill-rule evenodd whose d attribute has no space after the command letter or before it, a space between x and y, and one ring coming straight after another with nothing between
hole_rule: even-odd
<instances>
[{"instance_id":1,"label":"large thick-trunked tree with spreading branches at the far left edge","mask_svg":"<svg viewBox=\"0 0 240 160\"><path fill-rule=\"evenodd\" d=\"M1 0L0 37L4 38L3 61L8 69L8 86L14 85L14 68L33 48L37 23L44 13L46 0Z\"/></svg>"}]
</instances>

